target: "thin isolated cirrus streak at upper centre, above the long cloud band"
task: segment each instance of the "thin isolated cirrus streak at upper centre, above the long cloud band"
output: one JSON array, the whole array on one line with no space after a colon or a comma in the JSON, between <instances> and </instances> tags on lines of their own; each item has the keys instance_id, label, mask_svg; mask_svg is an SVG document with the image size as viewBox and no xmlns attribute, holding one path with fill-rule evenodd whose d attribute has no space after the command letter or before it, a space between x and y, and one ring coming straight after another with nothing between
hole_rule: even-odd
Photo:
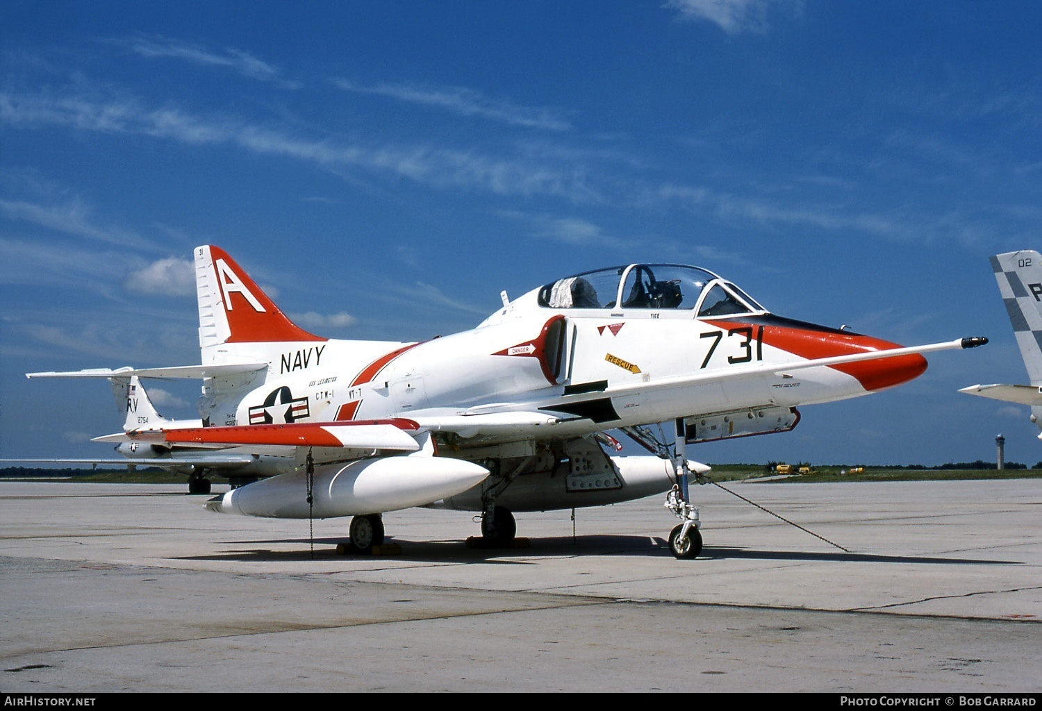
<instances>
[{"instance_id":1,"label":"thin isolated cirrus streak at upper centre, above the long cloud band","mask_svg":"<svg viewBox=\"0 0 1042 711\"><path fill-rule=\"evenodd\" d=\"M345 92L382 96L421 106L440 108L460 116L473 116L512 126L525 126L551 131L567 131L571 123L559 110L539 106L520 106L506 99L493 99L464 86L429 86L418 84L381 83L372 86L333 79Z\"/></svg>"}]
</instances>

